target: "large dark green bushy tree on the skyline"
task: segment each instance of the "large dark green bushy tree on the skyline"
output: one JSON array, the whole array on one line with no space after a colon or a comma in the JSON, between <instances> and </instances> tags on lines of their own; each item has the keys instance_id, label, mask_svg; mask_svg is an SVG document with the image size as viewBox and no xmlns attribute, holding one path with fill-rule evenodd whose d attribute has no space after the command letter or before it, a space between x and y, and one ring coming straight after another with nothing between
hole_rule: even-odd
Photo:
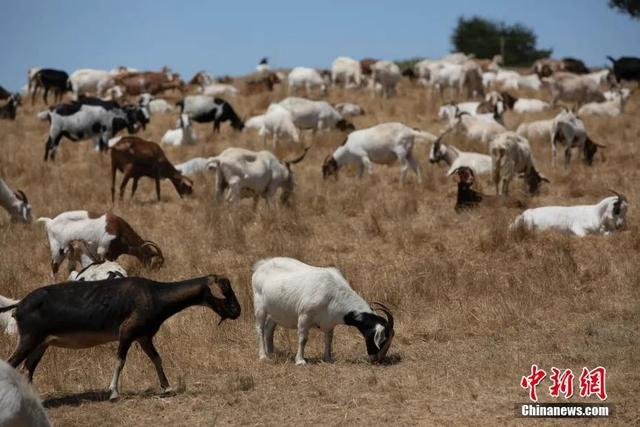
<instances>
[{"instance_id":1,"label":"large dark green bushy tree on the skyline","mask_svg":"<svg viewBox=\"0 0 640 427\"><path fill-rule=\"evenodd\" d=\"M522 24L506 25L474 16L458 18L451 35L457 52L474 54L476 58L492 58L503 54L505 65L529 65L551 55L551 49L538 50L537 36Z\"/></svg>"}]
</instances>

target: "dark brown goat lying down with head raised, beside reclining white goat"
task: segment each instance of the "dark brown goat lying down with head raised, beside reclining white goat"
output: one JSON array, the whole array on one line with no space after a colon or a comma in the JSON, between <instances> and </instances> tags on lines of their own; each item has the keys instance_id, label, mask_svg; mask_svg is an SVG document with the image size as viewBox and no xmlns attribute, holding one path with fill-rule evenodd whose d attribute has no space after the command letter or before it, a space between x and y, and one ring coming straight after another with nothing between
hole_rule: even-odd
<instances>
[{"instance_id":1,"label":"dark brown goat lying down with head raised, beside reclining white goat","mask_svg":"<svg viewBox=\"0 0 640 427\"><path fill-rule=\"evenodd\" d=\"M483 194L473 189L475 174L468 166L460 166L452 172L458 182L458 193L454 210L458 213L476 207L504 207L524 209L527 207L522 200L510 196L495 196Z\"/></svg>"}]
</instances>

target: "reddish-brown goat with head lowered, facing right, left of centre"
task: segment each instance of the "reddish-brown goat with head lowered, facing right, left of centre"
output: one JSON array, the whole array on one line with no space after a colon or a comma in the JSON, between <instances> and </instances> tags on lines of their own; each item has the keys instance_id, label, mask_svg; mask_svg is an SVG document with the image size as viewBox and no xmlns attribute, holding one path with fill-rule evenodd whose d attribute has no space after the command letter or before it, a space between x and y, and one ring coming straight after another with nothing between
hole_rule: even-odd
<instances>
[{"instance_id":1,"label":"reddish-brown goat with head lowered, facing right, left of centre","mask_svg":"<svg viewBox=\"0 0 640 427\"><path fill-rule=\"evenodd\" d=\"M115 198L116 171L124 174L120 184L120 200L124 190L133 178L131 197L138 188L138 180L149 177L156 181L156 195L160 200L160 180L168 178L176 188L178 195L193 193L193 181L182 175L167 159L158 144L137 137L123 137L111 147L111 201Z\"/></svg>"}]
</instances>

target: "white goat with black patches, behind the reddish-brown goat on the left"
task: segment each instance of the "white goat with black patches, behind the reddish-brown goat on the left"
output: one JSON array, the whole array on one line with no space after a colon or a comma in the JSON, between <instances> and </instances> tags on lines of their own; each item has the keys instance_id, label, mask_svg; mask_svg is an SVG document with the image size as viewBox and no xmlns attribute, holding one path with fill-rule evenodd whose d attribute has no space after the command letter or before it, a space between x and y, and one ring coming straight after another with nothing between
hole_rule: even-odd
<instances>
[{"instance_id":1,"label":"white goat with black patches, behind the reddish-brown goat on the left","mask_svg":"<svg viewBox=\"0 0 640 427\"><path fill-rule=\"evenodd\" d=\"M93 140L96 149L105 151L109 138L123 129L129 134L144 129L148 118L135 105L120 107L113 101L85 97L77 102L58 105L38 115L50 122L49 137L45 145L44 160L55 158L62 137L72 141Z\"/></svg>"}]
</instances>

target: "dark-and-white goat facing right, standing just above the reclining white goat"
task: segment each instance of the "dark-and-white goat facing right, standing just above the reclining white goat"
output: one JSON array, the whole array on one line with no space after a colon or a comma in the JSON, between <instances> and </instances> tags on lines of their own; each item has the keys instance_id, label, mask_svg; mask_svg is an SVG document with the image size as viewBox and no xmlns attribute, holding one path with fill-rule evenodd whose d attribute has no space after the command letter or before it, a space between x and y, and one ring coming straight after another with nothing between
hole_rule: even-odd
<instances>
[{"instance_id":1,"label":"dark-and-white goat facing right, standing just above the reclining white goat","mask_svg":"<svg viewBox=\"0 0 640 427\"><path fill-rule=\"evenodd\" d=\"M571 162L571 149L577 147L583 153L585 162L590 166L598 148L606 145L598 144L589 138L584 122L573 111L564 109L553 119L551 125L551 163L556 164L556 144L564 146L564 164Z\"/></svg>"}]
</instances>

